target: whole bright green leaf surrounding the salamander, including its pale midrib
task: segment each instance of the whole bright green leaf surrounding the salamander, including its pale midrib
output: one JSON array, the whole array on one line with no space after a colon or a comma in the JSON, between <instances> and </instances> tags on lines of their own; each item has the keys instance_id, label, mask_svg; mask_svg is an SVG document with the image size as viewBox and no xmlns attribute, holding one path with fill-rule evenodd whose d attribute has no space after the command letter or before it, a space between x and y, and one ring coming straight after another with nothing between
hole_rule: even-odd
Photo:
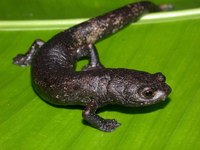
<instances>
[{"instance_id":1,"label":"whole bright green leaf surrounding the salamander, including its pale midrib","mask_svg":"<svg viewBox=\"0 0 200 150\"><path fill-rule=\"evenodd\" d=\"M48 23L66 19L68 28L68 19L90 18L130 2L0 2L0 149L200 149L200 9L194 9L200 7L199 0L162 1L174 4L171 13L181 15L142 19L97 43L106 67L161 71L173 90L166 102L154 106L101 109L102 117L122 124L112 133L83 122L82 107L57 108L43 102L31 87L30 68L12 65L12 58L26 52L34 39L46 41L64 27ZM16 20L24 21L19 25Z\"/></svg>"}]
</instances>

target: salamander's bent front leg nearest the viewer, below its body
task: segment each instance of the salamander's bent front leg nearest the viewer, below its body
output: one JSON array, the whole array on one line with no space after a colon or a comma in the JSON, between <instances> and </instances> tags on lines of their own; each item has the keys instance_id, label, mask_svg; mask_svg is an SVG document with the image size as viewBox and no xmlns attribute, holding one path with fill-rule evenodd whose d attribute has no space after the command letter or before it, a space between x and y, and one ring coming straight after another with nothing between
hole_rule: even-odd
<instances>
[{"instance_id":1,"label":"salamander's bent front leg nearest the viewer, below its body","mask_svg":"<svg viewBox=\"0 0 200 150\"><path fill-rule=\"evenodd\" d=\"M83 118L89 122L93 127L105 131L112 132L120 124L115 119L103 119L96 114L98 104L92 100L82 113Z\"/></svg>"}]
</instances>

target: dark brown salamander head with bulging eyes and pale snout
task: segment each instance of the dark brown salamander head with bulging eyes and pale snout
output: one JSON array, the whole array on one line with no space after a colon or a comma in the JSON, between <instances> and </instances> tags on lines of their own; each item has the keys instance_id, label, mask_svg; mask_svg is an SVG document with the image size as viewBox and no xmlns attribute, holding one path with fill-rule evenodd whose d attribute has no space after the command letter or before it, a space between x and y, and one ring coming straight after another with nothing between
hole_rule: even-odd
<instances>
[{"instance_id":1,"label":"dark brown salamander head with bulging eyes and pale snout","mask_svg":"<svg viewBox=\"0 0 200 150\"><path fill-rule=\"evenodd\" d=\"M117 102L125 106L152 105L164 101L171 93L162 73L129 72L123 75L121 81L113 91L118 92Z\"/></svg>"}]
</instances>

